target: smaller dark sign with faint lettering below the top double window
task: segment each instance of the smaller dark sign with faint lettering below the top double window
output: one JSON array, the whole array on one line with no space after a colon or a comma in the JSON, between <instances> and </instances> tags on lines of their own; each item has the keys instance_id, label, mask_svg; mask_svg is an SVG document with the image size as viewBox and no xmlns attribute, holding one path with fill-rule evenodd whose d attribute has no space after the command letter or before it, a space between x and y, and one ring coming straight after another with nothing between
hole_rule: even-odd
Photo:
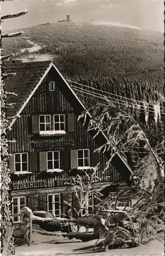
<instances>
[{"instance_id":1,"label":"smaller dark sign with faint lettering below the top double window","mask_svg":"<svg viewBox=\"0 0 165 256\"><path fill-rule=\"evenodd\" d=\"M41 147L63 147L63 146L74 146L74 140L32 140L33 148L41 148Z\"/></svg>"}]
</instances>

